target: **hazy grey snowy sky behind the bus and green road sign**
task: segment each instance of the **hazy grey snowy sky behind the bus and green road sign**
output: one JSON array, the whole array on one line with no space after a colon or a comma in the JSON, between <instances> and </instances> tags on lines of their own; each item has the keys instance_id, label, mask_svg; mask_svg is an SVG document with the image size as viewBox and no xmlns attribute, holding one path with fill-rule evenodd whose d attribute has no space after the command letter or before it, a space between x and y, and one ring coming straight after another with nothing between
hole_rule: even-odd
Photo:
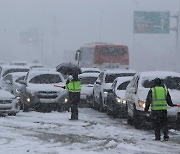
<instances>
[{"instance_id":1,"label":"hazy grey snowy sky behind the bus and green road sign","mask_svg":"<svg viewBox=\"0 0 180 154\"><path fill-rule=\"evenodd\" d=\"M179 71L175 31L133 34L135 10L175 15L179 0L0 0L0 61L56 67L73 62L84 44L107 42L127 45L130 68L137 71Z\"/></svg>"}]
</instances>

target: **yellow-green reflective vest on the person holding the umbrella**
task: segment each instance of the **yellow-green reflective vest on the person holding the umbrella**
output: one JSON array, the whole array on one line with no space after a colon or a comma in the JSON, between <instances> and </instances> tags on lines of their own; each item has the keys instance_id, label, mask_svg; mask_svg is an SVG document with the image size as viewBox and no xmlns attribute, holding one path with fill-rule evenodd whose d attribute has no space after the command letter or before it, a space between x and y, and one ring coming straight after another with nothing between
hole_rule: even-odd
<instances>
[{"instance_id":1,"label":"yellow-green reflective vest on the person holding the umbrella","mask_svg":"<svg viewBox=\"0 0 180 154\"><path fill-rule=\"evenodd\" d=\"M80 81L70 81L66 87L69 92L80 92L81 91L81 82Z\"/></svg>"}]
</instances>

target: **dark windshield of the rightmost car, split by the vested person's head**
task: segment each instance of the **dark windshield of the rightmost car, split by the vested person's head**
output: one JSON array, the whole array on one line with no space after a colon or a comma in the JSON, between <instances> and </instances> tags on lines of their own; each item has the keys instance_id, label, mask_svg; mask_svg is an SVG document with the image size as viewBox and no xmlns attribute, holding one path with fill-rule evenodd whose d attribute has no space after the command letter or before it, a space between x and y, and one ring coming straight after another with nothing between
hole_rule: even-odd
<instances>
[{"instance_id":1,"label":"dark windshield of the rightmost car, split by the vested person's head","mask_svg":"<svg viewBox=\"0 0 180 154\"><path fill-rule=\"evenodd\" d=\"M154 79L143 80L142 85L144 88L151 88L154 86ZM162 85L165 85L168 89L180 90L180 77L168 76L162 79Z\"/></svg>"}]
</instances>

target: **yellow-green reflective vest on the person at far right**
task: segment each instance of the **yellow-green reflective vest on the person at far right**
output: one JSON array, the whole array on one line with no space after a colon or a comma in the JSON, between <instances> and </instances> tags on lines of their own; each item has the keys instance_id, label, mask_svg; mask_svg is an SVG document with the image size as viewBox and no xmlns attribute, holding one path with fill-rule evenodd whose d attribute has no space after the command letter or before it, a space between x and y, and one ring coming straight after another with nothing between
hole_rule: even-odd
<instances>
[{"instance_id":1,"label":"yellow-green reflective vest on the person at far right","mask_svg":"<svg viewBox=\"0 0 180 154\"><path fill-rule=\"evenodd\" d=\"M154 87L152 90L152 104L151 110L167 110L167 90L163 87Z\"/></svg>"}]
</instances>

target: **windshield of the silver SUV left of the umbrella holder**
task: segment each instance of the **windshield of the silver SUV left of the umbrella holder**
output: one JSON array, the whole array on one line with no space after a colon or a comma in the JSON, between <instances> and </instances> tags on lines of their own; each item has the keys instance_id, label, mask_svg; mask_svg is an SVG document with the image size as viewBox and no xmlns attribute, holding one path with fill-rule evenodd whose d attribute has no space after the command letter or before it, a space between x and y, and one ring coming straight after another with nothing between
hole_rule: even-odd
<instances>
[{"instance_id":1,"label":"windshield of the silver SUV left of the umbrella holder","mask_svg":"<svg viewBox=\"0 0 180 154\"><path fill-rule=\"evenodd\" d=\"M62 82L60 76L58 74L41 74L33 77L29 83L36 84L52 84Z\"/></svg>"}]
</instances>

